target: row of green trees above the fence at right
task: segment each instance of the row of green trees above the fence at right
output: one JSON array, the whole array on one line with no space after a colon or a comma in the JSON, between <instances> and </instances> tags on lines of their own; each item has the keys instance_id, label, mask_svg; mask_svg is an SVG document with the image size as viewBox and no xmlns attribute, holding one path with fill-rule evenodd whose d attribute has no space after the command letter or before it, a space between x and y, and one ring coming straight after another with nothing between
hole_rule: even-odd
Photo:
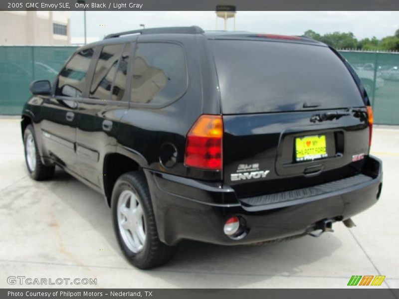
<instances>
[{"instance_id":1,"label":"row of green trees above the fence at right","mask_svg":"<svg viewBox=\"0 0 399 299\"><path fill-rule=\"evenodd\" d=\"M399 50L399 29L396 30L395 35L386 36L381 40L375 36L358 40L352 32L336 31L321 35L313 30L307 30L304 34L337 49L350 48L374 51Z\"/></svg>"}]
</instances>

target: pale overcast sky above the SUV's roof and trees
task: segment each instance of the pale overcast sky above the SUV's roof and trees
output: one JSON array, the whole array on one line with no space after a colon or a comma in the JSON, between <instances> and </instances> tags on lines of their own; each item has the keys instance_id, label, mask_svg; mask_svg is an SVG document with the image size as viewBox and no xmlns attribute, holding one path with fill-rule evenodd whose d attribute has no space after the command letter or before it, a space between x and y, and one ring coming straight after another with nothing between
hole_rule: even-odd
<instances>
[{"instance_id":1,"label":"pale overcast sky above the SUV's roof and trees","mask_svg":"<svg viewBox=\"0 0 399 299\"><path fill-rule=\"evenodd\" d=\"M88 42L102 39L104 35L140 28L198 25L204 30L214 30L214 11L87 11ZM218 19L218 29L223 20ZM232 30L233 21L228 21ZM238 11L236 30L264 33L302 35L312 29L321 34L351 31L358 39L382 38L393 35L399 28L398 11ZM72 43L83 41L83 11L71 12Z\"/></svg>"}]
</instances>

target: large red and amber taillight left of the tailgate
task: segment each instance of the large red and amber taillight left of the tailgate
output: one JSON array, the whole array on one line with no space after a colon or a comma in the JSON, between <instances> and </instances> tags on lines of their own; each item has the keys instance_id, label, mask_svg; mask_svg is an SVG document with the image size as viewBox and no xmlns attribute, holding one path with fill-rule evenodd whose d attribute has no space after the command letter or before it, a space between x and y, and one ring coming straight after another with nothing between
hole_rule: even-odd
<instances>
[{"instance_id":1,"label":"large red and amber taillight left of the tailgate","mask_svg":"<svg viewBox=\"0 0 399 299\"><path fill-rule=\"evenodd\" d=\"M201 115L187 134L186 166L221 170L223 120L220 115Z\"/></svg>"}]
</instances>

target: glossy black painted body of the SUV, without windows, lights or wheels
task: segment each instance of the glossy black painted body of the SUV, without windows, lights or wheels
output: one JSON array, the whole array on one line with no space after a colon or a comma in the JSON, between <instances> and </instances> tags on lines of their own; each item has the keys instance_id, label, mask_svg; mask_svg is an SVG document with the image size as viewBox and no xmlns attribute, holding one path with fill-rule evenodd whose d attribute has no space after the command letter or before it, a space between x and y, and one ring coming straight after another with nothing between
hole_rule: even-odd
<instances>
[{"instance_id":1,"label":"glossy black painted body of the SUV, without windows, lights or wheels","mask_svg":"<svg viewBox=\"0 0 399 299\"><path fill-rule=\"evenodd\" d=\"M251 36L148 34L110 38L86 45L77 51L94 49L87 72L90 82L96 58L104 44L130 43L130 57L134 57L136 44L141 42L179 43L186 55L187 89L180 98L163 107L132 103L130 79L127 80L125 96L119 102L88 98L89 86L79 98L54 96L54 92L50 96L36 95L24 106L22 129L27 123L34 125L45 164L61 166L104 194L108 203L114 180L107 180L107 169L124 166L107 164L110 157L123 156L131 160L132 165L137 165L134 170L141 169L146 174L160 239L171 245L182 239L234 245L292 236L304 233L323 219L348 219L376 203L381 191L382 163L368 156L369 124L365 107L368 98L356 75L354 80L359 81L356 84L364 103L353 107L357 108L357 112L339 119L313 123L310 121L313 115L331 111L314 107L295 111L223 114L218 74L208 40L256 39ZM265 38L260 42L276 41ZM309 47L325 47L306 39L302 43ZM128 78L132 76L131 60ZM345 64L345 61L340 63ZM338 108L345 110L349 107ZM201 114L223 117L222 171L184 165L186 135ZM294 162L294 138L318 134L326 135L329 157ZM352 156L359 153L365 153L366 158L352 162ZM267 176L230 180L230 174L236 172L239 164L251 163L259 163L261 170L269 170ZM372 179L317 198L309 196L299 201L294 198L281 207L251 207L241 201L362 173ZM241 240L232 240L223 233L224 222L234 215L239 215L248 228L247 236Z\"/></svg>"}]
</instances>

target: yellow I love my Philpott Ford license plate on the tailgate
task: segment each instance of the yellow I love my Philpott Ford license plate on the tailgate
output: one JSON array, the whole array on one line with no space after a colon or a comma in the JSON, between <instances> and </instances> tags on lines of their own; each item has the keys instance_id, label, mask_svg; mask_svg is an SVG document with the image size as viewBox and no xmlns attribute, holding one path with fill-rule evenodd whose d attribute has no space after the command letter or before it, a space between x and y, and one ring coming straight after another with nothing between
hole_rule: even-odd
<instances>
[{"instance_id":1,"label":"yellow I love my Philpott Ford license plate on the tailgate","mask_svg":"<svg viewBox=\"0 0 399 299\"><path fill-rule=\"evenodd\" d=\"M313 160L327 156L326 136L305 136L295 138L296 160Z\"/></svg>"}]
</instances>

